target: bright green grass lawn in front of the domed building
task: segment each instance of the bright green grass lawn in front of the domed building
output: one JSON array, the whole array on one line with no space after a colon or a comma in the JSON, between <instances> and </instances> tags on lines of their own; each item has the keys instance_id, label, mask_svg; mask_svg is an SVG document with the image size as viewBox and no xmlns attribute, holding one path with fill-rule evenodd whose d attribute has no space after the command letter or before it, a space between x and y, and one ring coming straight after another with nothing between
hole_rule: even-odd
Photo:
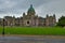
<instances>
[{"instance_id":1,"label":"bright green grass lawn in front of the domed building","mask_svg":"<svg viewBox=\"0 0 65 43\"><path fill-rule=\"evenodd\" d=\"M0 34L2 33L0 27ZM65 35L65 28L61 27L4 27L5 34L43 34L43 35Z\"/></svg>"}]
</instances>

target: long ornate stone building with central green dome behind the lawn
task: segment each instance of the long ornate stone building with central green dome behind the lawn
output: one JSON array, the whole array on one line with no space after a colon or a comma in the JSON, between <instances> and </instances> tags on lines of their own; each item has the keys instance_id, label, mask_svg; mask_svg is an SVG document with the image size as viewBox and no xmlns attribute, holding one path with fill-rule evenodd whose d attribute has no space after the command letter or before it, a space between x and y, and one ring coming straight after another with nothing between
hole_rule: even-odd
<instances>
[{"instance_id":1,"label":"long ornate stone building with central green dome behind the lawn","mask_svg":"<svg viewBox=\"0 0 65 43\"><path fill-rule=\"evenodd\" d=\"M2 18L0 19L0 25L2 25ZM32 5L27 11L27 14L23 13L23 17L15 16L4 16L5 26L55 26L56 19L55 14L53 16L47 15L46 18L36 15Z\"/></svg>"}]
</instances>

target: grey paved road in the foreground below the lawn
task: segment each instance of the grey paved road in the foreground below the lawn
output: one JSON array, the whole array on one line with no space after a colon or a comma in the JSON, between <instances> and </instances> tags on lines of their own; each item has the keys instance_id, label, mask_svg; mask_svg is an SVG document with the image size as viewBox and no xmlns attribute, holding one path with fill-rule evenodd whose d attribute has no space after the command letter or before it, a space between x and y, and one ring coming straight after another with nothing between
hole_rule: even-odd
<instances>
[{"instance_id":1,"label":"grey paved road in the foreground below the lawn","mask_svg":"<svg viewBox=\"0 0 65 43\"><path fill-rule=\"evenodd\" d=\"M35 37L0 37L0 43L65 43L65 39Z\"/></svg>"}]
</instances>

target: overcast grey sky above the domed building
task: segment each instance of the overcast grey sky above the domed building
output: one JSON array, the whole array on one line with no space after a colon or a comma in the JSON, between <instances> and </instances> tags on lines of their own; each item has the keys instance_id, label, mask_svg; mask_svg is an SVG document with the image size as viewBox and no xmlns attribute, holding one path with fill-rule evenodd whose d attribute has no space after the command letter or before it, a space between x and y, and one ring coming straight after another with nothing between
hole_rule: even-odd
<instances>
[{"instance_id":1,"label":"overcast grey sky above the domed building","mask_svg":"<svg viewBox=\"0 0 65 43\"><path fill-rule=\"evenodd\" d=\"M55 14L56 18L65 16L65 0L0 0L0 17L22 16L30 4L39 16L46 17L47 14Z\"/></svg>"}]
</instances>

